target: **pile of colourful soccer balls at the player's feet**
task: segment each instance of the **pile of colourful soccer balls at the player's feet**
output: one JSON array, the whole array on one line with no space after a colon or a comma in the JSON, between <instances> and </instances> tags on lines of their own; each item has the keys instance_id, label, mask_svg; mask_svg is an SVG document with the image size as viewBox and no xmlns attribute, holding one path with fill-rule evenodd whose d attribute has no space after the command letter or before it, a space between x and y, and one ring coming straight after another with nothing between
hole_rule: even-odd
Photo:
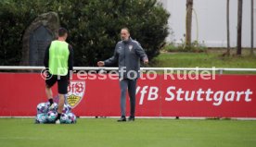
<instances>
[{"instance_id":1,"label":"pile of colourful soccer balls at the player's feet","mask_svg":"<svg viewBox=\"0 0 256 147\"><path fill-rule=\"evenodd\" d=\"M37 115L35 116L36 124L53 124L58 116L58 104L54 103L52 106L49 102L37 105ZM64 104L62 114L60 116L61 124L75 124L76 116L71 113L69 104Z\"/></svg>"}]
</instances>

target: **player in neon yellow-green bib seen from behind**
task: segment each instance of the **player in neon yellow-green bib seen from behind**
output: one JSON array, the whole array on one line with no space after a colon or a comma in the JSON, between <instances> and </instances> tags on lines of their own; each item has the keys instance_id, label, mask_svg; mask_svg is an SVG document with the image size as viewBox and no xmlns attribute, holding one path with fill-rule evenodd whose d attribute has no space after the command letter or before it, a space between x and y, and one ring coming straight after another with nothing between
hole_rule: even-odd
<instances>
[{"instance_id":1,"label":"player in neon yellow-green bib seen from behind","mask_svg":"<svg viewBox=\"0 0 256 147\"><path fill-rule=\"evenodd\" d=\"M70 74L73 69L73 49L69 43L66 43L68 31L65 28L58 30L58 40L53 41L45 50L45 68L47 77L45 80L45 92L50 105L53 102L52 86L58 82L58 116L56 124L59 124L63 106L65 103L65 94L68 93L70 83Z\"/></svg>"}]
</instances>

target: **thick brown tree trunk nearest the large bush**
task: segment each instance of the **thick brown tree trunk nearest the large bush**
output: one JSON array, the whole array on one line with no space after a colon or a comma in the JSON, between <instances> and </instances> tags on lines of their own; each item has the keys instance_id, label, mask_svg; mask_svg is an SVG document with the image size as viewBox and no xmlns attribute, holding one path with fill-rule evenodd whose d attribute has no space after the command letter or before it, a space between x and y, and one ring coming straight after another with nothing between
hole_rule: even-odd
<instances>
[{"instance_id":1,"label":"thick brown tree trunk nearest the large bush","mask_svg":"<svg viewBox=\"0 0 256 147\"><path fill-rule=\"evenodd\" d=\"M193 0L186 0L186 47L191 46Z\"/></svg>"}]
</instances>

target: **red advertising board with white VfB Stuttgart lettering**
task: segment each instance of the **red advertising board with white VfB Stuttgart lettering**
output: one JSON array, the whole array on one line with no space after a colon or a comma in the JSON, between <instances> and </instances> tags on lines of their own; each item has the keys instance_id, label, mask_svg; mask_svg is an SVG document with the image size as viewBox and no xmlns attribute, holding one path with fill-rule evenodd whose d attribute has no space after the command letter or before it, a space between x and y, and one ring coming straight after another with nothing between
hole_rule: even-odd
<instances>
[{"instance_id":1,"label":"red advertising board with white VfB Stuttgart lettering","mask_svg":"<svg viewBox=\"0 0 256 147\"><path fill-rule=\"evenodd\" d=\"M73 77L67 102L76 116L120 116L119 80L100 80L99 75L94 75L96 79ZM1 73L0 81L0 116L35 116L36 105L47 101L40 74ZM141 79L136 89L136 116L256 117L255 85L254 75ZM126 102L128 116L128 95Z\"/></svg>"}]
</instances>

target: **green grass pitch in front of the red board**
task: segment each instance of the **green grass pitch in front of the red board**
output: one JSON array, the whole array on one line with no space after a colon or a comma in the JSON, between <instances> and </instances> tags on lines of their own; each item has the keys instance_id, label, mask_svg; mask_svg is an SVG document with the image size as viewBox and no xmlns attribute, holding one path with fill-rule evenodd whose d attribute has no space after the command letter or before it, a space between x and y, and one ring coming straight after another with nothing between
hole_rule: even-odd
<instances>
[{"instance_id":1,"label":"green grass pitch in front of the red board","mask_svg":"<svg viewBox=\"0 0 256 147\"><path fill-rule=\"evenodd\" d=\"M36 125L30 118L1 118L1 147L254 147L256 121L79 119L74 125Z\"/></svg>"}]
</instances>

